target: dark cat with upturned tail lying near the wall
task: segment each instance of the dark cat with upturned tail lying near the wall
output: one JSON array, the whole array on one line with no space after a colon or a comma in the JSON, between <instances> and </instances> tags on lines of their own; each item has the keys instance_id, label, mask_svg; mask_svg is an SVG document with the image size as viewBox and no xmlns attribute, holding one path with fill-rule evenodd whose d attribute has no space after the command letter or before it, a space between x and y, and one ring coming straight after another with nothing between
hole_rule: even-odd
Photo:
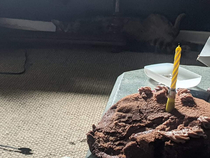
<instances>
[{"instance_id":1,"label":"dark cat with upturned tail lying near the wall","mask_svg":"<svg viewBox=\"0 0 210 158\"><path fill-rule=\"evenodd\" d=\"M135 40L139 43L155 46L160 49L167 49L168 52L175 47L175 38L180 31L180 23L185 14L180 14L174 25L160 14L150 14L143 21L139 19L129 19L124 24L123 32L127 39Z\"/></svg>"}]
</instances>

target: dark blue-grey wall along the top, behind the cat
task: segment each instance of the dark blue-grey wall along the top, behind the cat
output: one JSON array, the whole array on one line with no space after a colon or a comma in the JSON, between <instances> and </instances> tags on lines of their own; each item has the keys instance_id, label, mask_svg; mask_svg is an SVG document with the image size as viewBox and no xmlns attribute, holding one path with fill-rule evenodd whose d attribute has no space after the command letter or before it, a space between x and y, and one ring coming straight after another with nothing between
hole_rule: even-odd
<instances>
[{"instance_id":1,"label":"dark blue-grey wall along the top, behind the cat","mask_svg":"<svg viewBox=\"0 0 210 158\"><path fill-rule=\"evenodd\" d=\"M113 3L112 0L20 0L19 3L15 0L3 0L0 15L7 18L69 21L88 16L110 16L114 10ZM188 18L181 29L210 31L209 5L209 0L120 0L120 12L123 16L131 17L146 17L156 12L166 15L171 21L184 12Z\"/></svg>"}]
</instances>

